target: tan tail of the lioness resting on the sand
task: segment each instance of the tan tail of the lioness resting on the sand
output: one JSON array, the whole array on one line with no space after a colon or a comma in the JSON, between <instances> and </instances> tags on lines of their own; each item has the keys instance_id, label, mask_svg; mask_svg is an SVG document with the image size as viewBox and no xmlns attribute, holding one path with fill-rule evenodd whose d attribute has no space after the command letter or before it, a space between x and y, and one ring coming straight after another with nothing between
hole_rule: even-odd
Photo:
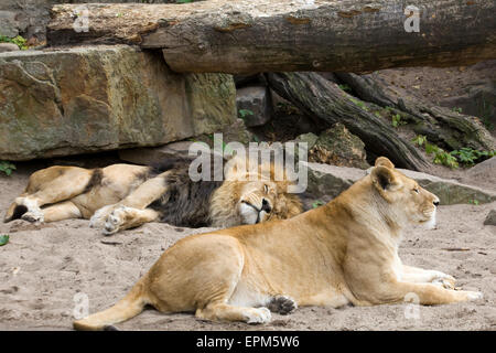
<instances>
[{"instance_id":1,"label":"tan tail of the lioness resting on the sand","mask_svg":"<svg viewBox=\"0 0 496 353\"><path fill-rule=\"evenodd\" d=\"M114 323L129 320L139 314L143 311L144 306L149 303L145 296L145 277L141 278L129 293L114 307L74 321L74 329L82 331L117 330L112 327Z\"/></svg>"}]
</instances>

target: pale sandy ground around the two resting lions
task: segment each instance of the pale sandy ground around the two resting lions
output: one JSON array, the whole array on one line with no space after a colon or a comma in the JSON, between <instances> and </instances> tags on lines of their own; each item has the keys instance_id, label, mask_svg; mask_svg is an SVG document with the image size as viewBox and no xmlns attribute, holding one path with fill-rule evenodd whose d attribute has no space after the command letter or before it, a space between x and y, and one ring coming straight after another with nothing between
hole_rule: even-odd
<instances>
[{"instance_id":1,"label":"pale sandy ground around the two resting lions","mask_svg":"<svg viewBox=\"0 0 496 353\"><path fill-rule=\"evenodd\" d=\"M28 167L26 167L28 165ZM0 176L0 213L21 193L35 164L21 165L11 178ZM39 167L39 165L37 165ZM212 323L190 313L147 310L122 330L496 330L496 227L484 226L486 205L441 206L436 229L408 229L403 263L438 269L457 278L457 286L477 289L484 299L438 307L388 304L342 309L300 308L273 314L265 325ZM10 243L0 247L0 330L71 330L76 302L86 295L89 312L120 299L165 248L193 233L152 223L110 237L72 220L32 225L0 224ZM462 249L462 250L461 250ZM79 295L77 295L79 293ZM75 297L76 296L76 297ZM85 297L83 297L85 298Z\"/></svg>"}]
</instances>

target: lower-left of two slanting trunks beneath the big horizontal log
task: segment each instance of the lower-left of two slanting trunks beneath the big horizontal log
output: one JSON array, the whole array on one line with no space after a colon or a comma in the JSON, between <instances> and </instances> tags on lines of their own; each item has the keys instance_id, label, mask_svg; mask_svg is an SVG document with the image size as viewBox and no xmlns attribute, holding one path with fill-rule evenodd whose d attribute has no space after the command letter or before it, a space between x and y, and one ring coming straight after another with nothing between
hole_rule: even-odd
<instances>
[{"instance_id":1,"label":"lower-left of two slanting trunks beneath the big horizontal log","mask_svg":"<svg viewBox=\"0 0 496 353\"><path fill-rule=\"evenodd\" d=\"M423 170L427 165L427 161L411 143L369 113L362 101L321 75L277 73L267 76L269 85L281 97L293 103L309 116L328 124L344 124L374 154L387 156L400 168Z\"/></svg>"}]
</instances>

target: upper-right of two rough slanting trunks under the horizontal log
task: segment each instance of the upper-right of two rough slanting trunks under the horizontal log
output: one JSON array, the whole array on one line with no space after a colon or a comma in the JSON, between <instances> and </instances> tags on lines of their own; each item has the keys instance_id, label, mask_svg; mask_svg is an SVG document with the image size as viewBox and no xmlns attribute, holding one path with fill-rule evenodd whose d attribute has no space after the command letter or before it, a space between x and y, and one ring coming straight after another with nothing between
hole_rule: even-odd
<instances>
[{"instance_id":1,"label":"upper-right of two rough slanting trunks under the horizontal log","mask_svg":"<svg viewBox=\"0 0 496 353\"><path fill-rule=\"evenodd\" d=\"M471 147L473 149L493 150L494 139L484 125L476 118L452 111L448 108L427 103L414 96L399 95L385 82L373 75L336 74L349 85L363 100L382 107L396 108L401 119L413 122L412 129L418 135L449 150Z\"/></svg>"}]
</instances>

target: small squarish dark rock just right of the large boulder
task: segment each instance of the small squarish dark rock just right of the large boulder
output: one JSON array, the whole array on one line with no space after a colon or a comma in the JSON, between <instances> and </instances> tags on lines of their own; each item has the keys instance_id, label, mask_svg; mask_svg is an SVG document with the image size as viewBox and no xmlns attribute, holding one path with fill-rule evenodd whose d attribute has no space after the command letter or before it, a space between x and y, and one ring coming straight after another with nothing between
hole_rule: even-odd
<instances>
[{"instance_id":1,"label":"small squarish dark rock just right of the large boulder","mask_svg":"<svg viewBox=\"0 0 496 353\"><path fill-rule=\"evenodd\" d=\"M239 88L236 93L238 116L247 127L267 124L272 115L270 90L266 86Z\"/></svg>"}]
</instances>

